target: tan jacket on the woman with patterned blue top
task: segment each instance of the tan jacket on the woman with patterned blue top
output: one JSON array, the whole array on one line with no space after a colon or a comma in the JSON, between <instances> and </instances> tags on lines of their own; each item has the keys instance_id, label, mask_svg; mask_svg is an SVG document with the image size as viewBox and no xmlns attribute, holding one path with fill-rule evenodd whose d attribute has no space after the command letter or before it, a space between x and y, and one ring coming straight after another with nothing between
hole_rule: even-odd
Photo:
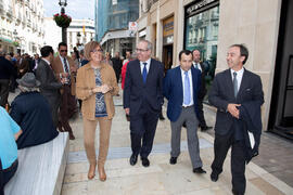
<instances>
[{"instance_id":1,"label":"tan jacket on the woman with patterned blue top","mask_svg":"<svg viewBox=\"0 0 293 195\"><path fill-rule=\"evenodd\" d=\"M103 63L101 67L101 78L102 83L113 87L111 91L104 94L107 118L112 119L115 115L113 95L119 92L113 67ZM93 88L95 88L94 70L90 63L88 63L77 70L76 77L76 96L82 100L81 113L88 120L95 119L95 94L91 94L90 92Z\"/></svg>"}]
</instances>

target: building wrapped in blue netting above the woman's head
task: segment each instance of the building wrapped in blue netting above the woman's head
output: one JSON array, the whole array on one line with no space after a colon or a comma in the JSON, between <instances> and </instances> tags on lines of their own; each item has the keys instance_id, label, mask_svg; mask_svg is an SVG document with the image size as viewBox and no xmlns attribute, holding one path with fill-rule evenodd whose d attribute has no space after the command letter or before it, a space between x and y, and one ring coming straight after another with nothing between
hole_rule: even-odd
<instances>
[{"instance_id":1,"label":"building wrapped in blue netting above the woman's head","mask_svg":"<svg viewBox=\"0 0 293 195\"><path fill-rule=\"evenodd\" d=\"M139 0L95 1L95 32L102 48L114 55L135 51L135 32L129 30L129 22L139 17Z\"/></svg>"}]
</instances>

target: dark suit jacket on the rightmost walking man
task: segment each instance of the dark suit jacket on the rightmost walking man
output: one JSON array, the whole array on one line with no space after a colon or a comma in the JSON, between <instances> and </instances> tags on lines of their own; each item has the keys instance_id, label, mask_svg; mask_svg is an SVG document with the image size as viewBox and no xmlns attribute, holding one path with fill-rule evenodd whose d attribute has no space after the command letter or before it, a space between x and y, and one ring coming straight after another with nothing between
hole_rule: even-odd
<instances>
[{"instance_id":1,"label":"dark suit jacket on the rightmost walking man","mask_svg":"<svg viewBox=\"0 0 293 195\"><path fill-rule=\"evenodd\" d=\"M226 69L217 74L213 80L208 102L217 107L215 131L225 135L231 130L232 125L235 125L235 127L240 125L239 120L227 110L228 104L255 102L259 106L263 105L264 92L260 77L244 68L241 86L237 98L234 98L231 72Z\"/></svg>"}]
</instances>

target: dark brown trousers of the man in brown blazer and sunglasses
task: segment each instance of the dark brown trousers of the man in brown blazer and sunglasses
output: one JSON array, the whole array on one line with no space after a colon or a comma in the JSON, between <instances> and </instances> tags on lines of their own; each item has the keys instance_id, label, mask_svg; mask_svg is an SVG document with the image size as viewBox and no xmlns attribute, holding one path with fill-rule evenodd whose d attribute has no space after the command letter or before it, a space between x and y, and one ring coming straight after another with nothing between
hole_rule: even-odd
<instances>
[{"instance_id":1,"label":"dark brown trousers of the man in brown blazer and sunglasses","mask_svg":"<svg viewBox=\"0 0 293 195\"><path fill-rule=\"evenodd\" d=\"M68 119L77 112L75 96L72 95L71 86L65 84L63 88L63 94L61 94L60 105L60 122L59 129L63 128L64 131L73 133L72 127L69 126Z\"/></svg>"}]
</instances>

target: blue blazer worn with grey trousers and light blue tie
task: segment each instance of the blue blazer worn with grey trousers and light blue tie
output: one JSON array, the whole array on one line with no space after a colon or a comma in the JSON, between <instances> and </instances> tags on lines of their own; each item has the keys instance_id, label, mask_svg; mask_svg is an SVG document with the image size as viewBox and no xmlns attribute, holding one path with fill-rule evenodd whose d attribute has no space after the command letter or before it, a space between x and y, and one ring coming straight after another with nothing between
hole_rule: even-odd
<instances>
[{"instance_id":1,"label":"blue blazer worn with grey trousers and light blue tie","mask_svg":"<svg viewBox=\"0 0 293 195\"><path fill-rule=\"evenodd\" d=\"M191 75L194 112L199 116L198 92L201 87L201 72L191 66ZM164 79L164 96L168 100L167 117L170 121L176 121L182 112L183 104L183 86L180 66L167 72Z\"/></svg>"}]
</instances>

